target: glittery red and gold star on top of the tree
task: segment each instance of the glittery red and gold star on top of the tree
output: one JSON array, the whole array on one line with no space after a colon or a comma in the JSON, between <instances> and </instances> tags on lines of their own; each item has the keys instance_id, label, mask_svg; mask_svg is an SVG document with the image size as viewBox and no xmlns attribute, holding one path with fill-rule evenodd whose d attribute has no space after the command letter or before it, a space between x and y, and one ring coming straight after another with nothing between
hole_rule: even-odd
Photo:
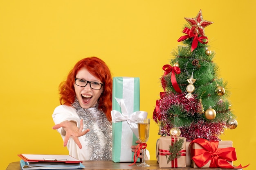
<instances>
[{"instance_id":1,"label":"glittery red and gold star on top of the tree","mask_svg":"<svg viewBox=\"0 0 256 170\"><path fill-rule=\"evenodd\" d=\"M187 17L184 17L184 18L192 26L191 31L193 31L194 33L198 33L201 36L204 35L204 28L213 23L211 21L203 20L201 9L195 18L187 18Z\"/></svg>"}]
</instances>

